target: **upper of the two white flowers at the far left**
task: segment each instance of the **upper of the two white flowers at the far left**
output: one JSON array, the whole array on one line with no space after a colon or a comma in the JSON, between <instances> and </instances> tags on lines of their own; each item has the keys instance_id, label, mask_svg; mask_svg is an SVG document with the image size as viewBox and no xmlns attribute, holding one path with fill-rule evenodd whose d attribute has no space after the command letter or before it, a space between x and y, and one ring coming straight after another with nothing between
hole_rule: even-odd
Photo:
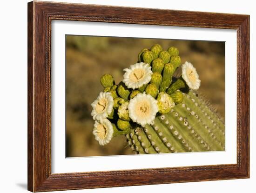
<instances>
[{"instance_id":1,"label":"upper of the two white flowers at the far left","mask_svg":"<svg viewBox=\"0 0 256 193\"><path fill-rule=\"evenodd\" d=\"M93 107L91 115L94 120L103 120L112 112L114 99L111 93L101 92L96 100L91 104Z\"/></svg>"}]
</instances>

